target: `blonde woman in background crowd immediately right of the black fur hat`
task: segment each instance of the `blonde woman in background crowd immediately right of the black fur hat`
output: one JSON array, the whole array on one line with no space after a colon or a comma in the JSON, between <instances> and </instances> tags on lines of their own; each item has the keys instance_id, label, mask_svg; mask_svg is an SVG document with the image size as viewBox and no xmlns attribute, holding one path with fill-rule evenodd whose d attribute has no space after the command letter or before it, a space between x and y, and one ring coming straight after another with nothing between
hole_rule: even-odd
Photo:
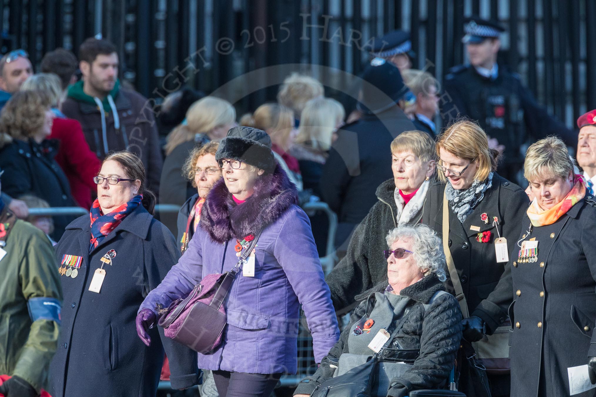
<instances>
[{"instance_id":1,"label":"blonde woman in background crowd immediately right of the black fur hat","mask_svg":"<svg viewBox=\"0 0 596 397\"><path fill-rule=\"evenodd\" d=\"M260 105L254 111L250 127L263 130L271 137L271 149L277 162L290 177L298 190L302 190L302 177L298 160L288 153L293 146L296 130L294 129L294 112L280 104Z\"/></svg>"}]
</instances>

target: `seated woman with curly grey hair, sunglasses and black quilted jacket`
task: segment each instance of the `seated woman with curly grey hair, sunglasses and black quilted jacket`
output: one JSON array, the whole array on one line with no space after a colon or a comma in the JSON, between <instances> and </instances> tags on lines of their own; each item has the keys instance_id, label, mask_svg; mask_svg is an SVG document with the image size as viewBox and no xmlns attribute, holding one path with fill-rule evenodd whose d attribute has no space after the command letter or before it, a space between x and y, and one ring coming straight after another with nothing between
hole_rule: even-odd
<instances>
[{"instance_id":1,"label":"seated woman with curly grey hair, sunglasses and black quilted jacket","mask_svg":"<svg viewBox=\"0 0 596 397\"><path fill-rule=\"evenodd\" d=\"M299 383L294 396L306 397L325 380L364 364L374 354L369 344L386 330L390 342L379 351L380 357L399 357L409 365L398 374L387 373L387 379L378 377L373 396L435 389L449 376L460 347L462 315L457 299L445 292L441 281L441 240L424 224L393 229L386 240L387 279L356 296L362 302L349 326L315 374Z\"/></svg>"}]
</instances>

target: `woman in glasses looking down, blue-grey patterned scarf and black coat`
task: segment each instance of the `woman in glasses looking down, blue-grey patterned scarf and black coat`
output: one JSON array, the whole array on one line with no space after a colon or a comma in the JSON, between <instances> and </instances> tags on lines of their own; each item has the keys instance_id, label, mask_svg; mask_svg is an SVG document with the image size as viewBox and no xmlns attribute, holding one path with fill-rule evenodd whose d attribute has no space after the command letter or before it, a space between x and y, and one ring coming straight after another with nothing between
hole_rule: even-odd
<instances>
[{"instance_id":1,"label":"woman in glasses looking down, blue-grey patterned scarf and black coat","mask_svg":"<svg viewBox=\"0 0 596 397\"><path fill-rule=\"evenodd\" d=\"M484 305L482 299L509 265L503 257L497 258L495 240L504 237L507 252L514 249L522 230L519 220L529 201L521 187L495 172L498 152L489 149L486 133L473 121L447 127L437 138L436 155L439 182L430 186L422 222L442 235L448 265L452 257L448 291L456 296L463 293L464 338L476 342L483 329L492 335L507 319L506 310ZM445 217L443 210L448 211ZM443 223L444 219L448 222ZM493 396L509 394L508 374L489 372L489 380Z\"/></svg>"}]
</instances>

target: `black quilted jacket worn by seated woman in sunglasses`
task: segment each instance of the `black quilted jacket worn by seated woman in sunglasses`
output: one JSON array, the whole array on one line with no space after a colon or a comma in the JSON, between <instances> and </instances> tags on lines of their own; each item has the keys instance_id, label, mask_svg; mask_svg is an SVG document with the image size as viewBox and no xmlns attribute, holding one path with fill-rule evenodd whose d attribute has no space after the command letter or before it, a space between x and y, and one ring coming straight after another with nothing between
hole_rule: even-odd
<instances>
[{"instance_id":1,"label":"black quilted jacket worn by seated woman in sunglasses","mask_svg":"<svg viewBox=\"0 0 596 397\"><path fill-rule=\"evenodd\" d=\"M373 289L356 296L356 299L372 295L369 299L374 300L374 293L382 292L386 286L387 282L381 282ZM434 274L401 290L401 295L409 296L411 302L405 312L407 320L393 334L389 347L418 349L420 355L406 373L392 380L387 396L403 397L411 390L436 389L449 376L460 347L462 315L457 299L447 293L437 296L428 309L424 310L423 304L428 304L438 290L443 290L443 284ZM349 353L347 337L356 321L365 315L366 306L366 300L358 305L339 341L321 361L321 367L313 376L306 377L299 383L294 395L309 395L317 385L333 377L340 355ZM399 318L394 320L398 321Z\"/></svg>"}]
</instances>

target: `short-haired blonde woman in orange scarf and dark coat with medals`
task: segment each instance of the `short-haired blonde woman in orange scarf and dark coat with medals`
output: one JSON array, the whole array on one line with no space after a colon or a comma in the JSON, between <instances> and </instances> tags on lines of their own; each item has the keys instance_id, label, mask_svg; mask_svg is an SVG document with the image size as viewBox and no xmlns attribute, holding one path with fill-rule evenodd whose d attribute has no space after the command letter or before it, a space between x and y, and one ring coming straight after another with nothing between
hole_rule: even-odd
<instances>
[{"instance_id":1,"label":"short-haired blonde woman in orange scarf and dark coat with medals","mask_svg":"<svg viewBox=\"0 0 596 397\"><path fill-rule=\"evenodd\" d=\"M567 368L588 364L596 383L596 201L558 137L529 147L524 176L535 198L487 301L511 318L511 396L567 396Z\"/></svg>"}]
</instances>

